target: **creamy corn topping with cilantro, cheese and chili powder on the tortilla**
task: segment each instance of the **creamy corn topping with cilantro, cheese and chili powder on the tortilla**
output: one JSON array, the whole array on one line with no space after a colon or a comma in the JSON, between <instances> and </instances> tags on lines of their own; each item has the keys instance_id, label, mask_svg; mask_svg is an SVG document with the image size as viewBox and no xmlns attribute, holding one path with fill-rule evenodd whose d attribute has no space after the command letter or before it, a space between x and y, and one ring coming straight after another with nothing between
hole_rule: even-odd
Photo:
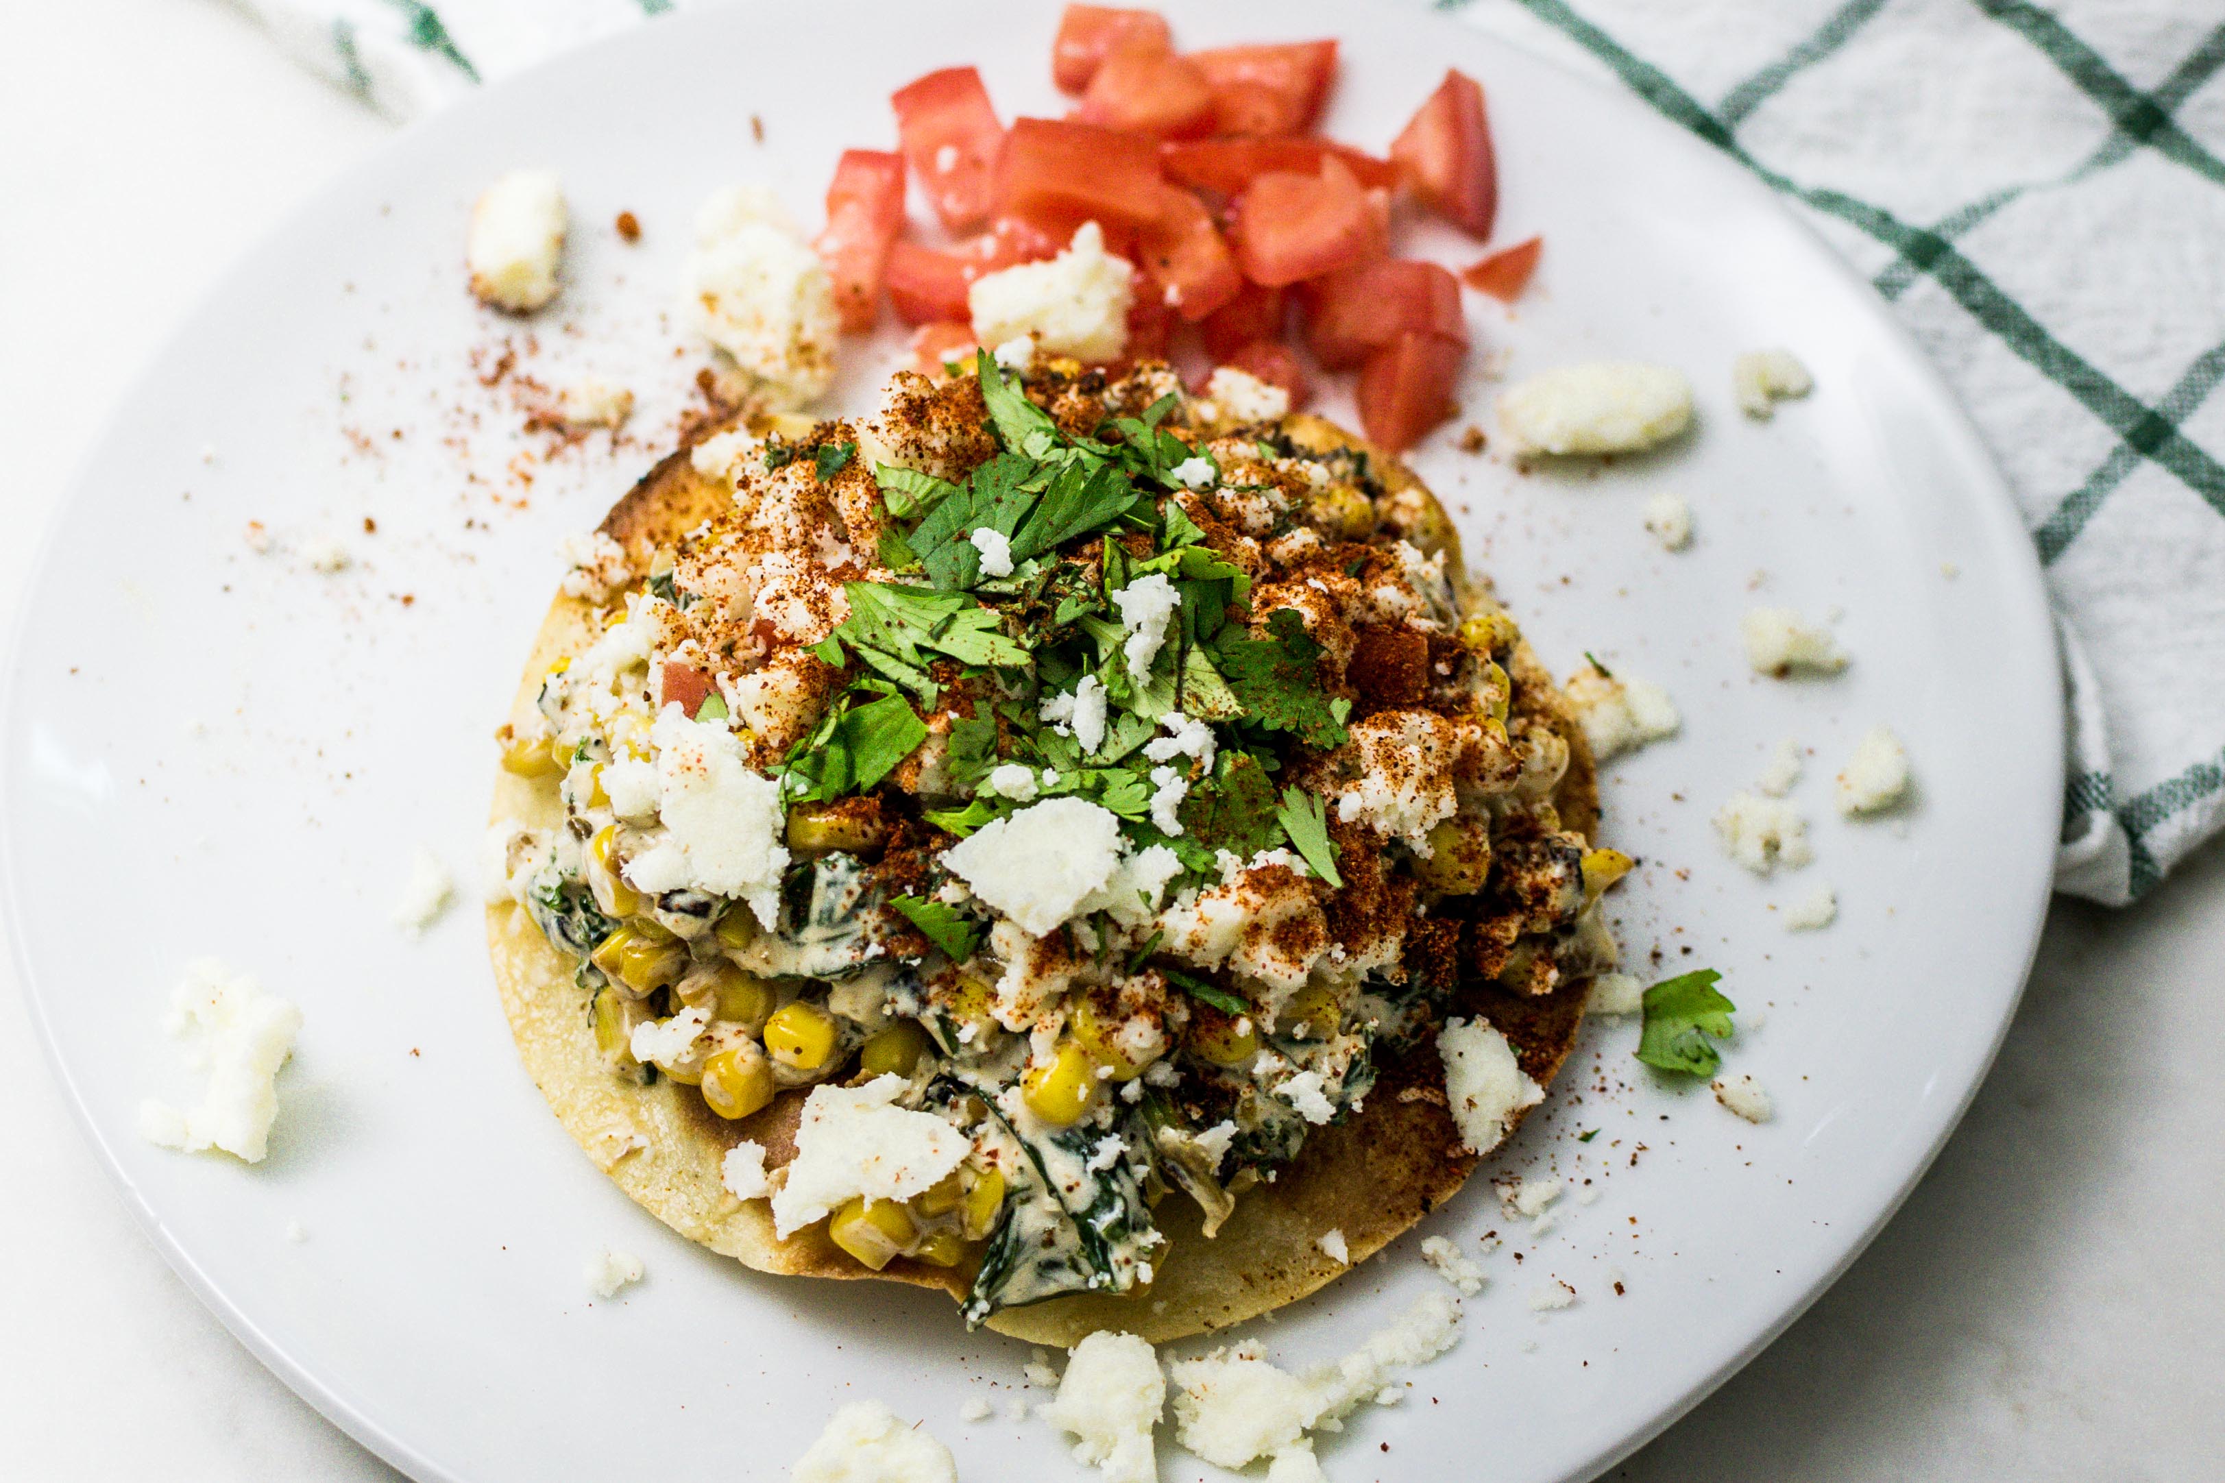
<instances>
[{"instance_id":1,"label":"creamy corn topping with cilantro, cheese and chili powder on the tortilla","mask_svg":"<svg viewBox=\"0 0 2225 1483\"><path fill-rule=\"evenodd\" d=\"M1150 1283L1164 1196L1213 1234L1464 983L1613 965L1629 860L1442 511L1242 391L983 356L710 438L732 509L583 549L599 631L503 736L610 1072L819 1087L781 1234L972 1267L968 1321Z\"/></svg>"}]
</instances>

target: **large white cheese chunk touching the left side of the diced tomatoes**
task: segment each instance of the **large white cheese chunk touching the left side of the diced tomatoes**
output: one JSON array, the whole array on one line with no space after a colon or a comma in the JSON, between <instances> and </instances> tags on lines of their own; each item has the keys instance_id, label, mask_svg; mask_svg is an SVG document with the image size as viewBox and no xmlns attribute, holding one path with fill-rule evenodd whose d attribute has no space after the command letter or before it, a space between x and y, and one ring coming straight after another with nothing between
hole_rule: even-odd
<instances>
[{"instance_id":1,"label":"large white cheese chunk touching the left side of the diced tomatoes","mask_svg":"<svg viewBox=\"0 0 2225 1483\"><path fill-rule=\"evenodd\" d=\"M817 400L834 380L834 280L768 191L734 187L703 202L688 313L774 411Z\"/></svg>"}]
</instances>

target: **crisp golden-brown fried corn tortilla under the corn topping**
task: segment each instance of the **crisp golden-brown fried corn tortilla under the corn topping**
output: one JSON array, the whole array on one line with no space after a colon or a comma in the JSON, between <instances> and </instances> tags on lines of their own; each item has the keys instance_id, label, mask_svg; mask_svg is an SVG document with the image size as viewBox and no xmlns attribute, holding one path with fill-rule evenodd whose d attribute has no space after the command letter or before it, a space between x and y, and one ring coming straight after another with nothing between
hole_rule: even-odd
<instances>
[{"instance_id":1,"label":"crisp golden-brown fried corn tortilla under the corn topping","mask_svg":"<svg viewBox=\"0 0 2225 1483\"><path fill-rule=\"evenodd\" d=\"M1451 547L1446 569L1462 611L1495 611L1495 603L1466 583L1457 536L1442 505L1404 465L1313 416L1293 414L1284 420L1284 431L1308 449L1371 451L1386 498L1422 500L1417 536ZM625 547L639 576L654 547L679 543L728 500L728 489L699 474L688 449L681 449L619 500L601 531ZM567 596L554 600L525 665L514 720L523 725L532 716L541 676L558 656L581 649L594 620L592 605ZM1593 838L1598 783L1582 729L1526 643L1517 645L1511 669L1529 694L1544 700L1569 745L1569 769L1553 796L1562 823ZM563 820L563 807L554 783L501 774L492 816L552 827ZM565 1132L650 1214L756 1272L881 1276L966 1296L977 1258L959 1267L934 1267L899 1256L872 1272L828 1238L823 1221L783 1241L774 1236L763 1201L743 1203L725 1190L723 1158L743 1138L765 1147L768 1170L794 1156L794 1129L808 1087L781 1092L748 1118L723 1121L694 1087L670 1078L636 1085L612 1074L596 1052L590 989L574 983L572 961L510 900L487 909L487 940L503 1009L527 1074ZM1575 1043L1586 983L1564 978L1542 996L1464 985L1455 1012L1497 1027L1522 1069L1540 1087L1549 1087ZM1282 1307L1339 1276L1346 1265L1331 1261L1317 1245L1331 1230L1344 1234L1353 1263L1411 1230L1444 1205L1480 1161L1462 1145L1444 1107L1444 1069L1433 1041L1380 1061L1382 1074L1364 1112L1313 1129L1297 1161L1275 1183L1246 1190L1213 1238L1199 1230L1197 1205L1179 1196L1166 1198L1155 1216L1168 1245L1159 1250L1161 1261L1148 1287L1121 1296L1077 1294L1006 1307L988 1316L988 1327L1044 1345L1072 1345L1095 1330L1126 1330L1153 1343L1181 1338Z\"/></svg>"}]
</instances>

